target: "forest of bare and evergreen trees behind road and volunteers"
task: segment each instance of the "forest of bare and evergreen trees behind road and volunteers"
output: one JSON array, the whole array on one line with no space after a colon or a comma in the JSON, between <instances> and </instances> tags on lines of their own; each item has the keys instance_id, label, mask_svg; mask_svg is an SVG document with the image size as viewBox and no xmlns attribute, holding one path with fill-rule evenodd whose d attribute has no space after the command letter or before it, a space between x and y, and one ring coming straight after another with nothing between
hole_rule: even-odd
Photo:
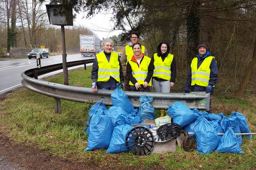
<instances>
[{"instance_id":1,"label":"forest of bare and evergreen trees behind road and volunteers","mask_svg":"<svg viewBox=\"0 0 256 170\"><path fill-rule=\"evenodd\" d=\"M140 42L149 55L156 53L160 41L167 40L177 62L177 75L187 76L199 41L218 64L217 92L255 93L256 78L256 1L248 0L52 0L71 4L74 11L87 11L91 18L100 11L112 11L110 37L120 48L131 31L140 33ZM0 0L0 52L11 47L40 48L61 52L61 30L49 25L39 0ZM86 18L84 18L86 20ZM94 34L85 26L65 29L68 53L79 53L79 34ZM107 38L107 37L106 37ZM180 80L184 85L184 82Z\"/></svg>"}]
</instances>

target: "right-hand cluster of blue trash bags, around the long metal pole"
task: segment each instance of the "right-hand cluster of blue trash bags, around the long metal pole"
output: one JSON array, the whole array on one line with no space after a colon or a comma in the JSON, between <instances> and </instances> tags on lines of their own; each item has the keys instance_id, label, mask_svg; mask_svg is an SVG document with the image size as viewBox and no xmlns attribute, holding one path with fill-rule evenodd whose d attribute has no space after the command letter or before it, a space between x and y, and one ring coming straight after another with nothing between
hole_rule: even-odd
<instances>
[{"instance_id":1,"label":"right-hand cluster of blue trash bags, around the long metal pole","mask_svg":"<svg viewBox=\"0 0 256 170\"><path fill-rule=\"evenodd\" d=\"M241 150L242 136L236 133L251 133L246 117L239 112L232 112L230 116L224 116L202 112L196 108L190 110L187 105L175 102L168 104L167 114L173 119L173 123L180 124L184 131L195 133L190 137L196 138L197 151L203 154L215 152L244 153ZM218 135L224 133L224 135ZM245 135L252 139L252 135Z\"/></svg>"}]
</instances>

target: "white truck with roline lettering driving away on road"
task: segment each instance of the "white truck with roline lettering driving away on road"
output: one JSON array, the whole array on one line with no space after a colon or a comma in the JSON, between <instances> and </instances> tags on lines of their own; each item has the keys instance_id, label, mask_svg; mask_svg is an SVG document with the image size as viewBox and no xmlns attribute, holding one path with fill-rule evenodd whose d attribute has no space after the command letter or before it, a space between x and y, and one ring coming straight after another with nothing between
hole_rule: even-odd
<instances>
[{"instance_id":1,"label":"white truck with roline lettering driving away on road","mask_svg":"<svg viewBox=\"0 0 256 170\"><path fill-rule=\"evenodd\" d=\"M95 57L101 51L100 39L95 35L80 34L80 52L86 57Z\"/></svg>"}]
</instances>

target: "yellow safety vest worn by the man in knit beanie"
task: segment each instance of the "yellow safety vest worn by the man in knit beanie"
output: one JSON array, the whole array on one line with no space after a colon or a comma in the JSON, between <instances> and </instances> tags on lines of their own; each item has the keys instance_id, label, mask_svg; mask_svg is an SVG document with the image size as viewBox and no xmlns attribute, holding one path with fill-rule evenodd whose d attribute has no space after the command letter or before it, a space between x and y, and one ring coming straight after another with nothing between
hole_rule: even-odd
<instances>
[{"instance_id":1,"label":"yellow safety vest worn by the man in knit beanie","mask_svg":"<svg viewBox=\"0 0 256 170\"><path fill-rule=\"evenodd\" d=\"M197 69L198 58L195 57L191 62L191 85L201 85L207 86L210 80L210 64L212 62L213 56L204 58L203 63ZM214 86L213 86L214 87Z\"/></svg>"}]
</instances>

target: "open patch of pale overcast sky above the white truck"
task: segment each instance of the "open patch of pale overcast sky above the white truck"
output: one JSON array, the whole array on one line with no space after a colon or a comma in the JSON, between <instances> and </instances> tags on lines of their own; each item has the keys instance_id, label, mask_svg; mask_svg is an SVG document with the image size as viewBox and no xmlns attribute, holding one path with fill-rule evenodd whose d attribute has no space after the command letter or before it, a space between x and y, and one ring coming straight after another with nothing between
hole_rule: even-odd
<instances>
[{"instance_id":1,"label":"open patch of pale overcast sky above the white truck","mask_svg":"<svg viewBox=\"0 0 256 170\"><path fill-rule=\"evenodd\" d=\"M74 25L86 26L95 34L97 34L100 40L102 40L102 38L108 38L113 35L117 36L118 34L122 33L120 30L111 31L114 26L113 22L110 21L112 14L99 13L91 19L86 19L85 16L86 13L83 12L77 14L76 19L74 20Z\"/></svg>"}]
</instances>

